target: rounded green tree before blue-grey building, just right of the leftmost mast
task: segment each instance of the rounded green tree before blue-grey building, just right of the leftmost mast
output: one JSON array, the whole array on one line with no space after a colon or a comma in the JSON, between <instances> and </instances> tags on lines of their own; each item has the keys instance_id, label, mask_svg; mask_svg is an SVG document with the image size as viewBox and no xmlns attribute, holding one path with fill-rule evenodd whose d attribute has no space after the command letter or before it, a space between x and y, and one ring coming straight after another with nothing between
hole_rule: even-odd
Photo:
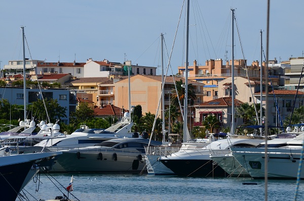
<instances>
[{"instance_id":1,"label":"rounded green tree before blue-grey building, just right of the leftmost mast","mask_svg":"<svg viewBox=\"0 0 304 201\"><path fill-rule=\"evenodd\" d=\"M48 122L48 117L47 117L47 112L50 117L50 121L55 121L56 119L60 119L62 117L66 117L65 107L61 107L57 101L57 99L48 99L45 98L45 103L46 103L46 108L44 107L44 103L42 100L38 99L37 101L34 101L31 103L31 105L27 106L27 110L33 111L33 114L37 116L37 118L41 120L47 120Z\"/></svg>"}]
</instances>

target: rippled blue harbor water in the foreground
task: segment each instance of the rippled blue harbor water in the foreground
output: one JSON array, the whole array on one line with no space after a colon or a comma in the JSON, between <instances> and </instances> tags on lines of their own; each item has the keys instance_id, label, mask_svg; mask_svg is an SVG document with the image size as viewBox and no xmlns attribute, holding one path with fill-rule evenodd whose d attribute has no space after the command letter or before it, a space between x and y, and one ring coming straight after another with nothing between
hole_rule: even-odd
<instances>
[{"instance_id":1,"label":"rippled blue harbor water in the foreground","mask_svg":"<svg viewBox=\"0 0 304 201\"><path fill-rule=\"evenodd\" d=\"M69 185L71 176L41 174L41 182L32 180L22 194L27 200L54 199L62 195L60 190L67 195L64 188ZM263 180L250 178L147 174L73 174L73 178L72 194L79 200L264 200L265 191ZM295 180L269 180L268 200L293 200L295 190ZM69 198L73 199L71 194ZM304 200L304 181L300 181L297 200Z\"/></svg>"}]
</instances>

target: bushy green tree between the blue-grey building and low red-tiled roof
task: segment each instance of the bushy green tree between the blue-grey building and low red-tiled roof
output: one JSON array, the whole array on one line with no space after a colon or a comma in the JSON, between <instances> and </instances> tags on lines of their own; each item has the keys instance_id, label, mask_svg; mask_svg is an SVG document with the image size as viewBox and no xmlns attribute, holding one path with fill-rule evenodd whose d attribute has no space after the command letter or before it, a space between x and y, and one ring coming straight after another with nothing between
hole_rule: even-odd
<instances>
[{"instance_id":1,"label":"bushy green tree between the blue-grey building and low red-tiled roof","mask_svg":"<svg viewBox=\"0 0 304 201\"><path fill-rule=\"evenodd\" d=\"M94 110L86 102L80 102L75 112L70 115L70 121L74 124L80 124L94 117Z\"/></svg>"}]
</instances>

